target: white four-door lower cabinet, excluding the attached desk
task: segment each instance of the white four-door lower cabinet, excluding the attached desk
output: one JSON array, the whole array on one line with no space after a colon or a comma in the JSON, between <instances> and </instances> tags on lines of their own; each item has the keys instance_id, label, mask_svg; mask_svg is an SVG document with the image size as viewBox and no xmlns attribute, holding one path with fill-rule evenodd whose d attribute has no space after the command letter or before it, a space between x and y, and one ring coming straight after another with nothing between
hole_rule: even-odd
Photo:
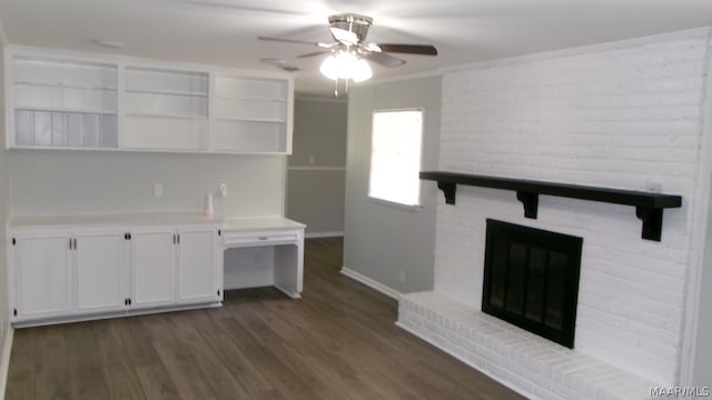
<instances>
[{"instance_id":1,"label":"white four-door lower cabinet, excluding the attached desk","mask_svg":"<svg viewBox=\"0 0 712 400\"><path fill-rule=\"evenodd\" d=\"M217 224L11 231L12 321L52 322L219 303Z\"/></svg>"}]
</instances>

